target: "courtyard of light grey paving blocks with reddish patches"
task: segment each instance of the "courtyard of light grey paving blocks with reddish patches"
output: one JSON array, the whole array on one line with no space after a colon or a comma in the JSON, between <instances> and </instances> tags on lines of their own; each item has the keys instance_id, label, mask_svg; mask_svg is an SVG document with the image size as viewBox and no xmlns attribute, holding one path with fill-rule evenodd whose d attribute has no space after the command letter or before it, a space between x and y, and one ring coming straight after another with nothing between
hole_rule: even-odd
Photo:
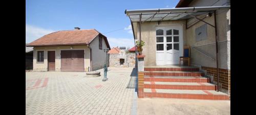
<instances>
[{"instance_id":1,"label":"courtyard of light grey paving blocks with reddish patches","mask_svg":"<svg viewBox=\"0 0 256 115\"><path fill-rule=\"evenodd\" d=\"M27 72L26 114L133 114L135 88L126 88L133 71L109 67L108 81L81 72Z\"/></svg>"}]
</instances>

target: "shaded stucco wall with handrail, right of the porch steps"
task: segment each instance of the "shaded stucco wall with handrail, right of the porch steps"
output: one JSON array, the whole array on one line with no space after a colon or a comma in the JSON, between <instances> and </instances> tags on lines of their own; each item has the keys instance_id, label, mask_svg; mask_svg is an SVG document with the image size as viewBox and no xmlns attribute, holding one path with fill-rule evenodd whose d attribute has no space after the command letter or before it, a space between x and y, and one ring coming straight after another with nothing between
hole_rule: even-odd
<instances>
[{"instance_id":1,"label":"shaded stucco wall with handrail, right of the porch steps","mask_svg":"<svg viewBox=\"0 0 256 115\"><path fill-rule=\"evenodd\" d=\"M228 32L230 33L230 24L227 19L228 10L218 10L217 11L217 33L219 43L219 67L223 69L230 68L230 35L228 38ZM194 21L193 19L189 21ZM214 15L211 17L206 17L204 21L209 22L214 25ZM196 47L201 52L215 58L214 61L210 60L208 57L199 53L195 49L191 49L191 64L201 65L208 67L216 67L216 47L215 44L215 28L207 25L207 39L202 41L196 41L195 30L196 28L204 25L204 22L198 22L196 25L190 27L186 30L187 44L190 47ZM210 44L210 45L208 45Z\"/></svg>"}]
</instances>

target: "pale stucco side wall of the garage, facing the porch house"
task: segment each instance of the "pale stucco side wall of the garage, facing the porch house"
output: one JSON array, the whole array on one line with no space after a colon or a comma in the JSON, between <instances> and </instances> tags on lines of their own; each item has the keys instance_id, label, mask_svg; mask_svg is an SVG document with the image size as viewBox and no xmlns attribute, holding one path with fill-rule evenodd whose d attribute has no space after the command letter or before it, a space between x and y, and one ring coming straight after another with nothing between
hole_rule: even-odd
<instances>
[{"instance_id":1,"label":"pale stucco side wall of the garage, facing the porch house","mask_svg":"<svg viewBox=\"0 0 256 115\"><path fill-rule=\"evenodd\" d=\"M106 63L106 53L103 49L108 48L105 40L102 39L102 50L99 50L99 36L90 43L90 48L92 49L92 71L103 68Z\"/></svg>"}]
</instances>

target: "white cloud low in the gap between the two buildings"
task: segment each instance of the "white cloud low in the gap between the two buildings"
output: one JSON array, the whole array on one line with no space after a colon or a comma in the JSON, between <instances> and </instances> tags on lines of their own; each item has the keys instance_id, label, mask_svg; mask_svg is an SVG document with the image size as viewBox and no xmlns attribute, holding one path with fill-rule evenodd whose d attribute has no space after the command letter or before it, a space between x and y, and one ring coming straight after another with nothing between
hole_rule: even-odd
<instances>
[{"instance_id":1,"label":"white cloud low in the gap between the two buildings","mask_svg":"<svg viewBox=\"0 0 256 115\"><path fill-rule=\"evenodd\" d=\"M133 38L113 38L108 37L108 41L110 43L110 47L130 47L133 48L134 45L134 39Z\"/></svg>"}]
</instances>

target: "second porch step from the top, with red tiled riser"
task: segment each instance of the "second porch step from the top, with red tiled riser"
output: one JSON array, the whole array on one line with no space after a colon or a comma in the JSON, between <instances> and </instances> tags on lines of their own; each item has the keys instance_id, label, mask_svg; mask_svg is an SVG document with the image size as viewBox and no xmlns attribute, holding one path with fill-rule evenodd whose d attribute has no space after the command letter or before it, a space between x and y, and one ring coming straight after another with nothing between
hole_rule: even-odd
<instances>
[{"instance_id":1,"label":"second porch step from the top, with red tiled riser","mask_svg":"<svg viewBox=\"0 0 256 115\"><path fill-rule=\"evenodd\" d=\"M198 71L145 71L144 76L204 76Z\"/></svg>"}]
</instances>

